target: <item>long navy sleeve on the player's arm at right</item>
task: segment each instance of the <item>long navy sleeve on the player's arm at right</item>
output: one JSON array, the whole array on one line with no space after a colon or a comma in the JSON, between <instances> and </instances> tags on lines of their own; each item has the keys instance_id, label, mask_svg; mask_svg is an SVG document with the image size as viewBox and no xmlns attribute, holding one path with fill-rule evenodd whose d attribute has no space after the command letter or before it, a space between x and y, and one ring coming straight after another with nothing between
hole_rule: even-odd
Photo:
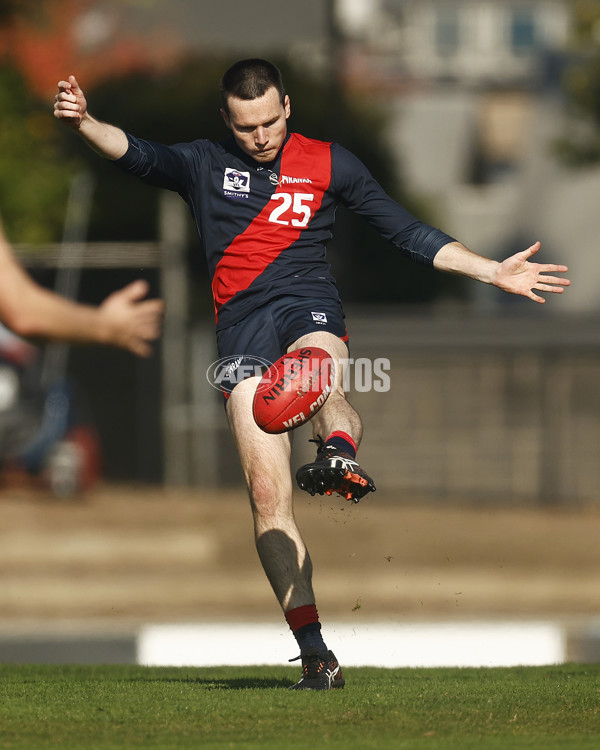
<instances>
[{"instance_id":1,"label":"long navy sleeve on the player's arm at right","mask_svg":"<svg viewBox=\"0 0 600 750\"><path fill-rule=\"evenodd\" d=\"M337 143L331 145L332 186L339 201L364 216L411 260L432 266L437 252L454 238L417 219L391 198L365 165Z\"/></svg>"}]
</instances>

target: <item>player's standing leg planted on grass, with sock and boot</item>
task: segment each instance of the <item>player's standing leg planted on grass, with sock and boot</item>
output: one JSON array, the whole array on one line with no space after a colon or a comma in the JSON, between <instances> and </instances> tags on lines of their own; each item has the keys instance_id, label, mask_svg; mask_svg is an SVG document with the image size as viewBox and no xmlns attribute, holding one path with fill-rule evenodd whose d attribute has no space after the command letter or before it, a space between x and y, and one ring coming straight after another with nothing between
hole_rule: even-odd
<instances>
[{"instance_id":1,"label":"player's standing leg planted on grass, with sock and boot","mask_svg":"<svg viewBox=\"0 0 600 750\"><path fill-rule=\"evenodd\" d=\"M256 548L300 647L300 690L343 687L342 670L321 636L312 588L312 563L292 507L289 435L267 435L254 422L252 398L259 378L239 383L227 416L250 494Z\"/></svg>"}]
</instances>

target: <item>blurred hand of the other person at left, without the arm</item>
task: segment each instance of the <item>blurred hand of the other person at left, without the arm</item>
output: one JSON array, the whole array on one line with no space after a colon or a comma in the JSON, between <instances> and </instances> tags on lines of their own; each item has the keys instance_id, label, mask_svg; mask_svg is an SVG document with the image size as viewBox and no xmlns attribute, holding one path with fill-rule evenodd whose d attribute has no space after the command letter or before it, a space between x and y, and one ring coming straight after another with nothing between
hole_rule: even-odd
<instances>
[{"instance_id":1,"label":"blurred hand of the other person at left, without the arm","mask_svg":"<svg viewBox=\"0 0 600 750\"><path fill-rule=\"evenodd\" d=\"M139 357L152 353L149 342L160 336L165 303L144 299L148 289L148 283L138 279L110 294L100 305L107 330L105 343L128 349Z\"/></svg>"}]
</instances>

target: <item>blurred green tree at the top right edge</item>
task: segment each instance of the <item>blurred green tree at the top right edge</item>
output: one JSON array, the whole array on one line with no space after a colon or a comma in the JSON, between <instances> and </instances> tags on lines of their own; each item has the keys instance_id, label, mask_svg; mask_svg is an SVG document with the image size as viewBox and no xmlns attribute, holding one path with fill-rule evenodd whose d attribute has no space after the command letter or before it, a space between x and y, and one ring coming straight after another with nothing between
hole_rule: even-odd
<instances>
[{"instance_id":1,"label":"blurred green tree at the top right edge","mask_svg":"<svg viewBox=\"0 0 600 750\"><path fill-rule=\"evenodd\" d=\"M569 118L559 155L572 166L600 161L600 0L575 0L570 63L563 79Z\"/></svg>"}]
</instances>

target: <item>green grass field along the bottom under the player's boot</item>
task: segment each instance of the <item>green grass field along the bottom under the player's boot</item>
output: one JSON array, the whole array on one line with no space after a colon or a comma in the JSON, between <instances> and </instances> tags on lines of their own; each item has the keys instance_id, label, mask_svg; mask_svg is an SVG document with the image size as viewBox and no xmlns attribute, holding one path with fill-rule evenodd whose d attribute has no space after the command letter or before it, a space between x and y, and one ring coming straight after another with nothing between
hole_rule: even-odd
<instances>
[{"instance_id":1,"label":"green grass field along the bottom under the player's boot","mask_svg":"<svg viewBox=\"0 0 600 750\"><path fill-rule=\"evenodd\" d=\"M600 665L346 670L286 690L291 667L0 666L0 747L600 747Z\"/></svg>"}]
</instances>

